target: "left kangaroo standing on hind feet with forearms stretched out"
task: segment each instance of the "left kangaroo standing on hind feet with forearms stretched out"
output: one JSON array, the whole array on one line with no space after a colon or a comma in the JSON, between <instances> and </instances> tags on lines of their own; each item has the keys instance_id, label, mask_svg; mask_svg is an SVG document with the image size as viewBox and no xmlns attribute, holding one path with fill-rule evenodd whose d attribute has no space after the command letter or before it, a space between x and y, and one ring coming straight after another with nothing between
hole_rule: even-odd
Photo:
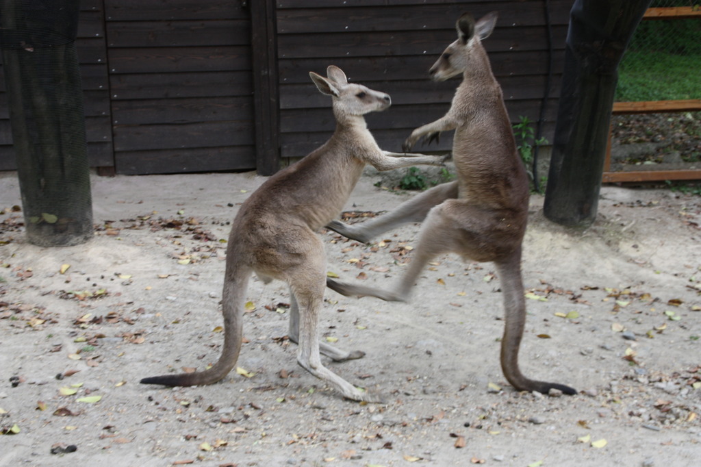
<instances>
[{"instance_id":1,"label":"left kangaroo standing on hind feet with forearms stretched out","mask_svg":"<svg viewBox=\"0 0 701 467\"><path fill-rule=\"evenodd\" d=\"M229 374L241 347L247 283L256 273L265 283L284 280L290 287L289 338L299 344L297 363L348 399L374 401L321 363L320 353L336 361L361 358L319 341L319 312L326 287L326 255L316 231L338 217L366 163L378 170L415 164L442 165L442 156L407 155L381 150L364 115L390 107L390 96L348 83L339 67L324 78L310 72L321 93L333 98L336 130L325 144L268 178L241 205L226 252L222 313L224 348L208 370L144 378L143 384L195 386Z\"/></svg>"}]
</instances>

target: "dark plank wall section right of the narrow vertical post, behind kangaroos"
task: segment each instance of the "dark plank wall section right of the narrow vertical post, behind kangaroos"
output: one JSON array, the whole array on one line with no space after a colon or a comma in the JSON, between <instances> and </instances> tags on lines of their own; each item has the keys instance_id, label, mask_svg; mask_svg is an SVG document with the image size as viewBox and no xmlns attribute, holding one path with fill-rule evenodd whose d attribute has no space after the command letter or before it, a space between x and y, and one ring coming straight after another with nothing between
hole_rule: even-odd
<instances>
[{"instance_id":1,"label":"dark plank wall section right of the narrow vertical post, behind kangaroos","mask_svg":"<svg viewBox=\"0 0 701 467\"><path fill-rule=\"evenodd\" d=\"M559 78L571 0L552 0L554 79L545 113L545 137L552 140ZM545 93L549 45L543 1L446 0L278 0L281 156L299 157L327 139L334 128L329 98L309 71L325 74L337 65L356 81L392 96L392 107L368 116L383 149L399 150L411 130L440 118L459 79L433 83L428 69L456 39L455 22L464 11L479 18L498 11L494 33L484 41L508 111L538 120ZM440 145L449 149L451 137Z\"/></svg>"}]
</instances>

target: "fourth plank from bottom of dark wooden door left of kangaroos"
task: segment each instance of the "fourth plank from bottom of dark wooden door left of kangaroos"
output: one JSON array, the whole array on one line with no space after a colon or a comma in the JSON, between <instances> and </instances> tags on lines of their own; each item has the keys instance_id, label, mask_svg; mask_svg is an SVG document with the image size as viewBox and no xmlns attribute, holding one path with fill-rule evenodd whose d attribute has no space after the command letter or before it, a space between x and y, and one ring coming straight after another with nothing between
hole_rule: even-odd
<instances>
[{"instance_id":1,"label":"fourth plank from bottom of dark wooden door left of kangaroos","mask_svg":"<svg viewBox=\"0 0 701 467\"><path fill-rule=\"evenodd\" d=\"M114 100L251 95L253 86L250 71L117 74L110 81Z\"/></svg>"}]
</instances>

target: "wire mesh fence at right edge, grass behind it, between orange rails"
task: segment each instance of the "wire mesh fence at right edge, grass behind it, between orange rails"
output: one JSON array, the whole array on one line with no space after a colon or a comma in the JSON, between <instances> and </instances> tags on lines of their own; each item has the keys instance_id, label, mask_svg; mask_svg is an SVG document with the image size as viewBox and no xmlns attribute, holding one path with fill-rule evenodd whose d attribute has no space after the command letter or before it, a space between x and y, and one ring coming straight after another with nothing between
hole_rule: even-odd
<instances>
[{"instance_id":1,"label":"wire mesh fence at right edge, grass behind it, between orange rails","mask_svg":"<svg viewBox=\"0 0 701 467\"><path fill-rule=\"evenodd\" d=\"M700 3L653 0L650 8L676 11L641 21L620 63L615 100L701 100L701 15L693 16ZM615 115L611 123L612 172L699 170L701 179L700 111Z\"/></svg>"}]
</instances>

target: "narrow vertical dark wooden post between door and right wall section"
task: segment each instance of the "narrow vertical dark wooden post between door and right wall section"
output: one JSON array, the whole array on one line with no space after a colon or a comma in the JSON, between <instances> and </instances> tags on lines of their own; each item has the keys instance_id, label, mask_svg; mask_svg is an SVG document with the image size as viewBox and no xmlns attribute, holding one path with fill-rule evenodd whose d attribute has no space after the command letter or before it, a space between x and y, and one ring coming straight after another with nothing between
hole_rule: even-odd
<instances>
[{"instance_id":1,"label":"narrow vertical dark wooden post between door and right wall section","mask_svg":"<svg viewBox=\"0 0 701 467\"><path fill-rule=\"evenodd\" d=\"M250 8L256 168L259 175L273 175L280 168L280 93L275 1L252 0Z\"/></svg>"}]
</instances>

